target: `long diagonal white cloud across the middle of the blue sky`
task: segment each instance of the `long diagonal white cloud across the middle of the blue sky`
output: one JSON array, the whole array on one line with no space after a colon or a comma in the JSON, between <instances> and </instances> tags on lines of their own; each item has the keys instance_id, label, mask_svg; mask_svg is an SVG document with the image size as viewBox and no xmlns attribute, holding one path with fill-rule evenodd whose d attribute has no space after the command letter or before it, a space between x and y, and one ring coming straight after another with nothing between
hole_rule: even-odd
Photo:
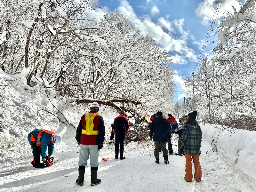
<instances>
[{"instance_id":1,"label":"long diagonal white cloud across the middle of the blue sky","mask_svg":"<svg viewBox=\"0 0 256 192\"><path fill-rule=\"evenodd\" d=\"M175 20L173 21L173 25L178 28L179 34L181 37L173 37L172 34L167 34L164 29L170 29L171 22L164 18L160 18L158 23L154 23L149 16L137 17L135 12L133 11L132 6L125 0L120 2L120 6L117 8L119 12L123 12L126 14L134 24L136 24L142 31L142 33L149 33L152 35L156 41L156 43L162 48L167 50L168 52L176 52L174 54L179 54L176 59L173 60L173 63L184 64L186 59L196 60L195 52L187 47L187 38L188 32L182 29L184 20ZM181 58L183 57L183 59Z\"/></svg>"}]
</instances>

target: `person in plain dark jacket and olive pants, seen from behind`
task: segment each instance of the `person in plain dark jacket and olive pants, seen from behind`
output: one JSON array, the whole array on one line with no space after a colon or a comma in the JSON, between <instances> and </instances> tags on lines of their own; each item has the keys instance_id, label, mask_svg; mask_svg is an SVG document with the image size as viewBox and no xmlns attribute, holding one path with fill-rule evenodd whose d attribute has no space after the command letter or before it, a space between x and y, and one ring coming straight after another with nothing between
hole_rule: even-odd
<instances>
[{"instance_id":1,"label":"person in plain dark jacket and olive pants, seen from behind","mask_svg":"<svg viewBox=\"0 0 256 192\"><path fill-rule=\"evenodd\" d=\"M156 158L156 163L159 164L159 147L161 146L163 150L164 164L169 164L168 150L166 149L166 141L167 139L171 139L170 126L168 122L164 120L163 113L161 111L158 111L156 115L157 117L152 121L149 130L149 137L150 140L152 140L152 136L154 134L153 141L155 143L154 155Z\"/></svg>"}]
</instances>

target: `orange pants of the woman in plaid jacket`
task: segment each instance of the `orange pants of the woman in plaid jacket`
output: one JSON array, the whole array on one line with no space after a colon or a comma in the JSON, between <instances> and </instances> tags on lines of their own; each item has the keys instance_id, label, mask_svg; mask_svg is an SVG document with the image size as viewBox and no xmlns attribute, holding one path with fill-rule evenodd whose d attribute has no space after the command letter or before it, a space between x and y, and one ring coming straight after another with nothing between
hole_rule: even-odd
<instances>
[{"instance_id":1,"label":"orange pants of the woman in plaid jacket","mask_svg":"<svg viewBox=\"0 0 256 192\"><path fill-rule=\"evenodd\" d=\"M194 174L194 178L195 180L199 181L202 178L202 168L199 162L199 154L196 155L191 155L185 152L185 158L186 158L186 180L189 182L192 182L192 178L193 178L193 174L192 174L192 158L193 158L193 163L195 166L195 174ZM197 177L197 178L196 178ZM198 179L200 178L200 179Z\"/></svg>"}]
</instances>

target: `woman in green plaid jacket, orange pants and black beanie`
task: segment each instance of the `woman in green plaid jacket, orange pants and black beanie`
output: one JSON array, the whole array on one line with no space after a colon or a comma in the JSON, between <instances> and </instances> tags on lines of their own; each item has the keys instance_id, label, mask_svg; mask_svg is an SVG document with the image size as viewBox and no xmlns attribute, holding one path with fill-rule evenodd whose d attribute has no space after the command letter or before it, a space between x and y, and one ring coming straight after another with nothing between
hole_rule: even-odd
<instances>
[{"instance_id":1,"label":"woman in green plaid jacket, orange pants and black beanie","mask_svg":"<svg viewBox=\"0 0 256 192\"><path fill-rule=\"evenodd\" d=\"M195 166L194 179L201 181L202 168L199 162L201 154L202 131L196 121L197 111L188 114L188 119L184 123L181 135L180 151L184 151L186 158L185 180L192 182L192 158Z\"/></svg>"}]
</instances>

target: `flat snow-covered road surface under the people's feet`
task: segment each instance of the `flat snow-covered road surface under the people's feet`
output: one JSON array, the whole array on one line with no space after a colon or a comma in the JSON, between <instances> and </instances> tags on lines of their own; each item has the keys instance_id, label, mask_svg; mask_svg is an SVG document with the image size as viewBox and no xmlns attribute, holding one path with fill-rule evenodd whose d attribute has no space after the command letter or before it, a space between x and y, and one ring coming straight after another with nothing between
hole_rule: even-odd
<instances>
[{"instance_id":1,"label":"flat snow-covered road surface under the people's feet","mask_svg":"<svg viewBox=\"0 0 256 192\"><path fill-rule=\"evenodd\" d=\"M98 170L101 183L90 186L90 165L87 165L84 186L77 186L79 148L76 148L75 143L75 140L63 140L53 155L59 162L49 168L35 169L29 164L30 158L22 157L19 161L1 164L0 191L253 191L216 153L207 155L211 149L207 142L202 143L199 158L203 173L201 182L184 181L185 156L169 156L170 164L167 165L160 156L160 164L156 164L153 145L144 148L132 142L125 148L125 160L115 160L114 147L105 146L101 149ZM109 157L110 160L102 162L103 157Z\"/></svg>"}]
</instances>

